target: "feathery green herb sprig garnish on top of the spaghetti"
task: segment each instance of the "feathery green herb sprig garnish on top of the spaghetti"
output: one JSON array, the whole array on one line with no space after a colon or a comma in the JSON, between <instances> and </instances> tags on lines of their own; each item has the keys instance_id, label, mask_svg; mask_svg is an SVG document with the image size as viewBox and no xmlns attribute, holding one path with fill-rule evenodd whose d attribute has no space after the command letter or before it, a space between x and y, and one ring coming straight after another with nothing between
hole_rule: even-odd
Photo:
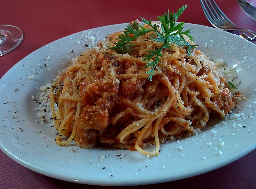
<instances>
[{"instance_id":1,"label":"feathery green herb sprig garnish on top of the spaghetti","mask_svg":"<svg viewBox=\"0 0 256 189\"><path fill-rule=\"evenodd\" d=\"M157 67L157 64L160 62L159 57L163 57L161 53L163 49L171 49L172 43L175 43L179 46L187 46L187 54L189 55L191 53L191 50L196 47L196 45L189 44L182 36L187 35L188 38L191 41L193 41L193 37L189 35L190 30L182 31L184 22L178 23L176 25L178 18L186 8L187 5L182 6L178 9L177 12L174 12L173 14L168 10L165 13L163 13L163 15L157 16L157 19L160 21L161 25L160 32L158 31L157 24L151 23L151 19L146 20L145 18L141 17L142 21L145 24L148 24L151 27L151 29L144 28L143 26L138 25L136 22L134 22L133 26L129 24L127 28L124 28L124 34L118 36L117 42L112 42L115 44L115 46L108 47L108 49L115 50L117 51L117 53L120 54L129 54L130 51L132 50L132 47L134 46L131 45L133 40L148 32L155 32L157 34L157 37L152 36L150 39L156 42L162 42L163 45L159 49L148 50L147 52L149 54L143 56L143 61L147 61L147 65L145 67L151 66L151 69L147 72L147 74L149 74L148 79L152 81L154 70L160 70Z\"/></svg>"}]
</instances>

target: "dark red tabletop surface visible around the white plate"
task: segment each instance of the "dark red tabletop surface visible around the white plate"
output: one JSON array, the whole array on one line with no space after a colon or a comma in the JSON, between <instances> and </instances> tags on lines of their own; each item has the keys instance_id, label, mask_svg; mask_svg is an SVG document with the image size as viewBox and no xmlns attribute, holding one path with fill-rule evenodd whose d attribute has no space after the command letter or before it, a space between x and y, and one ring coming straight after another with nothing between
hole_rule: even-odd
<instances>
[{"instance_id":1,"label":"dark red tabletop surface visible around the white plate","mask_svg":"<svg viewBox=\"0 0 256 189\"><path fill-rule=\"evenodd\" d=\"M256 0L248 1L256 5ZM256 32L256 20L240 8L237 0L215 0L215 2L237 27ZM140 16L155 20L155 16L161 15L166 10L175 12L185 4L188 8L180 16L179 22L213 27L204 15L200 0L1 0L0 24L19 27L23 31L24 38L16 49L0 57L0 78L21 59L54 40L91 28L129 23L140 19ZM236 32L236 34L240 33ZM256 41L251 43L256 45ZM23 167L5 153L0 151L1 189L98 187L39 174ZM150 184L146 187L256 188L255 159L256 150L252 150L240 159L218 169L181 180ZM145 187L145 185L136 187Z\"/></svg>"}]
</instances>

